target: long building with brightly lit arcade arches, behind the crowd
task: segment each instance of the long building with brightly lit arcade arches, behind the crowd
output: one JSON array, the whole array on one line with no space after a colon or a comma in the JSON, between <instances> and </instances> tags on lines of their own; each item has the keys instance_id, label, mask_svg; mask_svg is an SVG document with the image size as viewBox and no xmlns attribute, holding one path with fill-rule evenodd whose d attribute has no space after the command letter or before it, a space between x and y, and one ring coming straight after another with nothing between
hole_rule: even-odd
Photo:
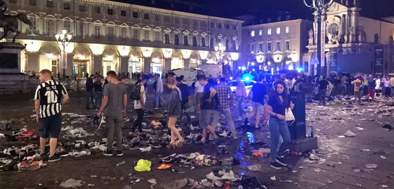
<instances>
[{"instance_id":1,"label":"long building with brightly lit arcade arches, behind the crowd","mask_svg":"<svg viewBox=\"0 0 394 189\"><path fill-rule=\"evenodd\" d=\"M5 1L7 14L25 13L33 23L19 24L17 42L27 45L21 71L62 73L63 47L55 38L62 30L72 34L65 50L66 75L79 77L82 72L164 73L217 63L214 47L219 43L228 47L223 59L229 64L240 57L241 20L108 0Z\"/></svg>"}]
</instances>

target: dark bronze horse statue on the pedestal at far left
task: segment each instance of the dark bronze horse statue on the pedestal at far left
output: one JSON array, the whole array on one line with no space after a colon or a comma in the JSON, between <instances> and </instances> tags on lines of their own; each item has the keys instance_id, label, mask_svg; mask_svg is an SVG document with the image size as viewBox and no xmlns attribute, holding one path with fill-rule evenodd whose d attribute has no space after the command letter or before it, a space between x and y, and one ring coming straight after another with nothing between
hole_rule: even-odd
<instances>
[{"instance_id":1,"label":"dark bronze horse statue on the pedestal at far left","mask_svg":"<svg viewBox=\"0 0 394 189\"><path fill-rule=\"evenodd\" d=\"M28 19L26 14L19 13L17 15L7 15L4 12L7 10L7 5L3 0L0 0L0 28L3 28L3 36L0 37L0 41L7 37L9 31L16 33L14 38L12 38L12 42L15 43L16 37L19 35L18 31L18 20L23 23L32 26L32 22Z\"/></svg>"}]
</instances>

